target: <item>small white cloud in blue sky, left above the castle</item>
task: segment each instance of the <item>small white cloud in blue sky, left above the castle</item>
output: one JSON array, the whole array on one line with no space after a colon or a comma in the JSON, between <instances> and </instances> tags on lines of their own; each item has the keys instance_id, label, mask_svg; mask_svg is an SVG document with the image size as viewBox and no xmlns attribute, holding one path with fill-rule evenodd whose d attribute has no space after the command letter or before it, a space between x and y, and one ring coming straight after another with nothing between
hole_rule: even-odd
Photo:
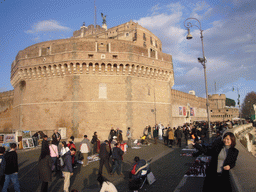
<instances>
[{"instance_id":1,"label":"small white cloud in blue sky, left above the castle","mask_svg":"<svg viewBox=\"0 0 256 192\"><path fill-rule=\"evenodd\" d=\"M62 26L58 21L45 20L39 21L32 26L32 29L25 31L26 33L39 33L49 31L68 31L70 28Z\"/></svg>"}]
</instances>

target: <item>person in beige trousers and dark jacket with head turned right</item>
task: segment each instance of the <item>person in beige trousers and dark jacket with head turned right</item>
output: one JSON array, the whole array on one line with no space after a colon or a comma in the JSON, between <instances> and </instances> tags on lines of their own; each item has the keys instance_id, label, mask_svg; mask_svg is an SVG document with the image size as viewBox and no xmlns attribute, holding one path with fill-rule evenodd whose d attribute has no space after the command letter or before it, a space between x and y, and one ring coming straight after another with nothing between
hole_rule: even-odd
<instances>
[{"instance_id":1,"label":"person in beige trousers and dark jacket with head turned right","mask_svg":"<svg viewBox=\"0 0 256 192\"><path fill-rule=\"evenodd\" d=\"M75 153L76 153L76 149L72 148L70 151L66 152L63 155L64 156L64 167L62 168L62 172L64 176L63 192L69 192L70 177L73 175L71 155L74 155Z\"/></svg>"}]
</instances>

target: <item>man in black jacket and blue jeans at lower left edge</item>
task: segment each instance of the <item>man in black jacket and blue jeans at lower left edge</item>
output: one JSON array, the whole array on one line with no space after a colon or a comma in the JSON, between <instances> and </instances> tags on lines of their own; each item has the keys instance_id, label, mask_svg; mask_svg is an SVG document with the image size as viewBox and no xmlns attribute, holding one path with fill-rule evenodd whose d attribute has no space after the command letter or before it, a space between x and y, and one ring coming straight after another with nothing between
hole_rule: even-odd
<instances>
[{"instance_id":1,"label":"man in black jacket and blue jeans at lower left edge","mask_svg":"<svg viewBox=\"0 0 256 192\"><path fill-rule=\"evenodd\" d=\"M17 145L16 143L10 144L11 150L5 154L5 182L2 192L7 192L10 180L14 185L14 190L20 192L20 184L18 179L18 155L16 153Z\"/></svg>"}]
</instances>

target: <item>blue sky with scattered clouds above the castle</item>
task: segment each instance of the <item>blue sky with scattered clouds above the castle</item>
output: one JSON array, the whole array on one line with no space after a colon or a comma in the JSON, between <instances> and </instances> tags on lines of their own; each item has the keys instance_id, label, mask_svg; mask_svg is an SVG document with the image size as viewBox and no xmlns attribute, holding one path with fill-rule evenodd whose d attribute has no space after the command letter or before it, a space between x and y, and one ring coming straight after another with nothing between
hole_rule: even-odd
<instances>
[{"instance_id":1,"label":"blue sky with scattered clouds above the castle","mask_svg":"<svg viewBox=\"0 0 256 192\"><path fill-rule=\"evenodd\" d=\"M10 71L19 50L37 42L69 38L83 22L94 24L93 0L0 0L0 92L12 90ZM241 102L256 91L256 2L253 0L96 0L108 28L133 20L157 35L163 52L173 56L174 89L205 97L199 30L186 40L184 20L201 21L209 94L226 94ZM196 23L193 23L196 24ZM235 91L232 91L232 88Z\"/></svg>"}]
</instances>

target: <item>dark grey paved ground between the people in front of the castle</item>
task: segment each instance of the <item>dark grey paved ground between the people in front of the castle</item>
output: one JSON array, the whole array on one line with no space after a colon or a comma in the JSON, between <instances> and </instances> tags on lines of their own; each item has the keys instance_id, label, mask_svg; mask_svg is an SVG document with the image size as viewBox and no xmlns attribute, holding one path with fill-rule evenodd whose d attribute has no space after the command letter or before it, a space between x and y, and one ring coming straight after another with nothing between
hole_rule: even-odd
<instances>
[{"instance_id":1,"label":"dark grey paved ground between the people in front of the castle","mask_svg":"<svg viewBox=\"0 0 256 192\"><path fill-rule=\"evenodd\" d=\"M76 144L77 147L79 146L78 144ZM124 155L122 164L124 175L110 177L105 167L103 168L103 175L114 183L118 191L128 192L128 170L133 163L133 158L139 156L141 159L148 160L153 157L151 170L157 181L152 185L146 184L141 191L200 191L203 181L202 178L183 179L185 172L194 161L194 158L181 157L180 151L181 148L178 147L168 148L163 145L162 141L159 141L157 145L150 144L149 146L142 146L140 149L129 148L128 152ZM39 155L40 148L18 151L21 191L40 191L41 181L37 172ZM70 190L77 189L79 192L99 191L100 188L96 180L98 168L99 161L92 162L86 167L78 165L78 168L74 169L74 175L71 177ZM61 192L63 190L63 179L60 176L60 173L53 173L53 180L49 183L49 191ZM177 186L179 186L179 189L176 189Z\"/></svg>"}]
</instances>

